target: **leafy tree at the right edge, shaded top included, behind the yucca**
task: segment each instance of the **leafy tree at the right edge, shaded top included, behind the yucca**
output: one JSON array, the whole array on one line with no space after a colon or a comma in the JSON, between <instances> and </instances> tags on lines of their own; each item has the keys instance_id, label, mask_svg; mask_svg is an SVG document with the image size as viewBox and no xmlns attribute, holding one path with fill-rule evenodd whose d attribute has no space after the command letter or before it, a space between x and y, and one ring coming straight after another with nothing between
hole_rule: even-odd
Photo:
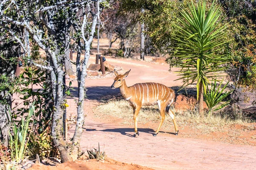
<instances>
[{"instance_id":1,"label":"leafy tree at the right edge, shaded top included, behind the yucca","mask_svg":"<svg viewBox=\"0 0 256 170\"><path fill-rule=\"evenodd\" d=\"M256 1L219 0L229 22L228 32L233 37L227 52L233 63L227 74L236 87L256 89Z\"/></svg>"}]
</instances>

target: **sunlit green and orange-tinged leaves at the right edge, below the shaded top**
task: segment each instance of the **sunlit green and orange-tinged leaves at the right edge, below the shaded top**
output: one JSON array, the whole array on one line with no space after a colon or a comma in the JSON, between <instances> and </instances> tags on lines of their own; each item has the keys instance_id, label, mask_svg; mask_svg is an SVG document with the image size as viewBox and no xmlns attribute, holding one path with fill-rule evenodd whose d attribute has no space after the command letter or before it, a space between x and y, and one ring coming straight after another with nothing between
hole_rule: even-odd
<instances>
[{"instance_id":1,"label":"sunlit green and orange-tinged leaves at the right edge, below the shaded top","mask_svg":"<svg viewBox=\"0 0 256 170\"><path fill-rule=\"evenodd\" d=\"M246 15L230 18L229 34L234 39L228 45L233 63L227 72L236 86L256 89L256 25Z\"/></svg>"}]
</instances>

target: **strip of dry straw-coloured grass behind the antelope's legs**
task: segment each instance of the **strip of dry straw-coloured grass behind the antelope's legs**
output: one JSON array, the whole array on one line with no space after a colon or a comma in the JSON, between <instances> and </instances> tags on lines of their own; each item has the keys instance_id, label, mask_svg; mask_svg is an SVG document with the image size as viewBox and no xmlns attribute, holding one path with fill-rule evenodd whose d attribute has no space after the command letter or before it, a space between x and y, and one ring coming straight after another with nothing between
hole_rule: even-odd
<instances>
[{"instance_id":1,"label":"strip of dry straw-coloured grass behind the antelope's legs","mask_svg":"<svg viewBox=\"0 0 256 170\"><path fill-rule=\"evenodd\" d=\"M102 105L98 105L95 109L95 116L114 116L122 119L123 124L133 124L133 110L129 103L124 99L115 99L112 101L108 101ZM173 111L174 109L171 108ZM220 127L228 126L228 125L245 125L246 123L250 123L251 121L247 118L244 118L241 113L221 113L216 112L212 113L212 115L205 115L201 117L196 111L185 111L185 112L175 112L175 116L177 119L177 123L179 125L184 124L194 124L197 129L204 129L206 132L215 131ZM147 122L159 122L160 121L160 113L158 110L158 106L143 106L138 115L138 119L140 123ZM168 122L172 122L170 116L166 115L166 120ZM169 125L163 124L163 126Z\"/></svg>"}]
</instances>

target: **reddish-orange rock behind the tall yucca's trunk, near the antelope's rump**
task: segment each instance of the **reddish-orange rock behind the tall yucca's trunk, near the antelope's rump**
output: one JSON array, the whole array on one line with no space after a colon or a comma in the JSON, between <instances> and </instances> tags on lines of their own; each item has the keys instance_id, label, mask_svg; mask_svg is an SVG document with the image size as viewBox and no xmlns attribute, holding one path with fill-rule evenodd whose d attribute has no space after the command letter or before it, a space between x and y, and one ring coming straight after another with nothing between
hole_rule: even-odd
<instances>
[{"instance_id":1,"label":"reddish-orange rock behind the tall yucca's trunk, near the antelope's rump","mask_svg":"<svg viewBox=\"0 0 256 170\"><path fill-rule=\"evenodd\" d=\"M195 97L187 97L183 94L180 94L176 97L176 101L174 102L175 110L186 111L193 110L197 105L197 99ZM204 102L204 110L207 111L208 107Z\"/></svg>"}]
</instances>

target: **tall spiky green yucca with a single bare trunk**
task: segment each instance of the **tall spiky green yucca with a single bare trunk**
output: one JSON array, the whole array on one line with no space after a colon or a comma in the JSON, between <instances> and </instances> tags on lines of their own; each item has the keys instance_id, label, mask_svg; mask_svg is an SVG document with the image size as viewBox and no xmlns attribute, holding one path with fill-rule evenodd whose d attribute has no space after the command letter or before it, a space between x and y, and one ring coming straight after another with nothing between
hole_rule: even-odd
<instances>
[{"instance_id":1,"label":"tall spiky green yucca with a single bare trunk","mask_svg":"<svg viewBox=\"0 0 256 170\"><path fill-rule=\"evenodd\" d=\"M183 87L197 82L197 99L199 113L203 115L203 91L206 91L207 82L216 77L218 72L227 69L224 64L230 58L221 55L223 48L224 32L227 25L220 26L221 7L212 2L207 10L205 0L195 5L188 4L188 10L181 7L180 24L175 24L177 32L174 34L176 47L172 47L173 54L169 59L177 59L174 66L180 68L179 75L183 79Z\"/></svg>"}]
</instances>

